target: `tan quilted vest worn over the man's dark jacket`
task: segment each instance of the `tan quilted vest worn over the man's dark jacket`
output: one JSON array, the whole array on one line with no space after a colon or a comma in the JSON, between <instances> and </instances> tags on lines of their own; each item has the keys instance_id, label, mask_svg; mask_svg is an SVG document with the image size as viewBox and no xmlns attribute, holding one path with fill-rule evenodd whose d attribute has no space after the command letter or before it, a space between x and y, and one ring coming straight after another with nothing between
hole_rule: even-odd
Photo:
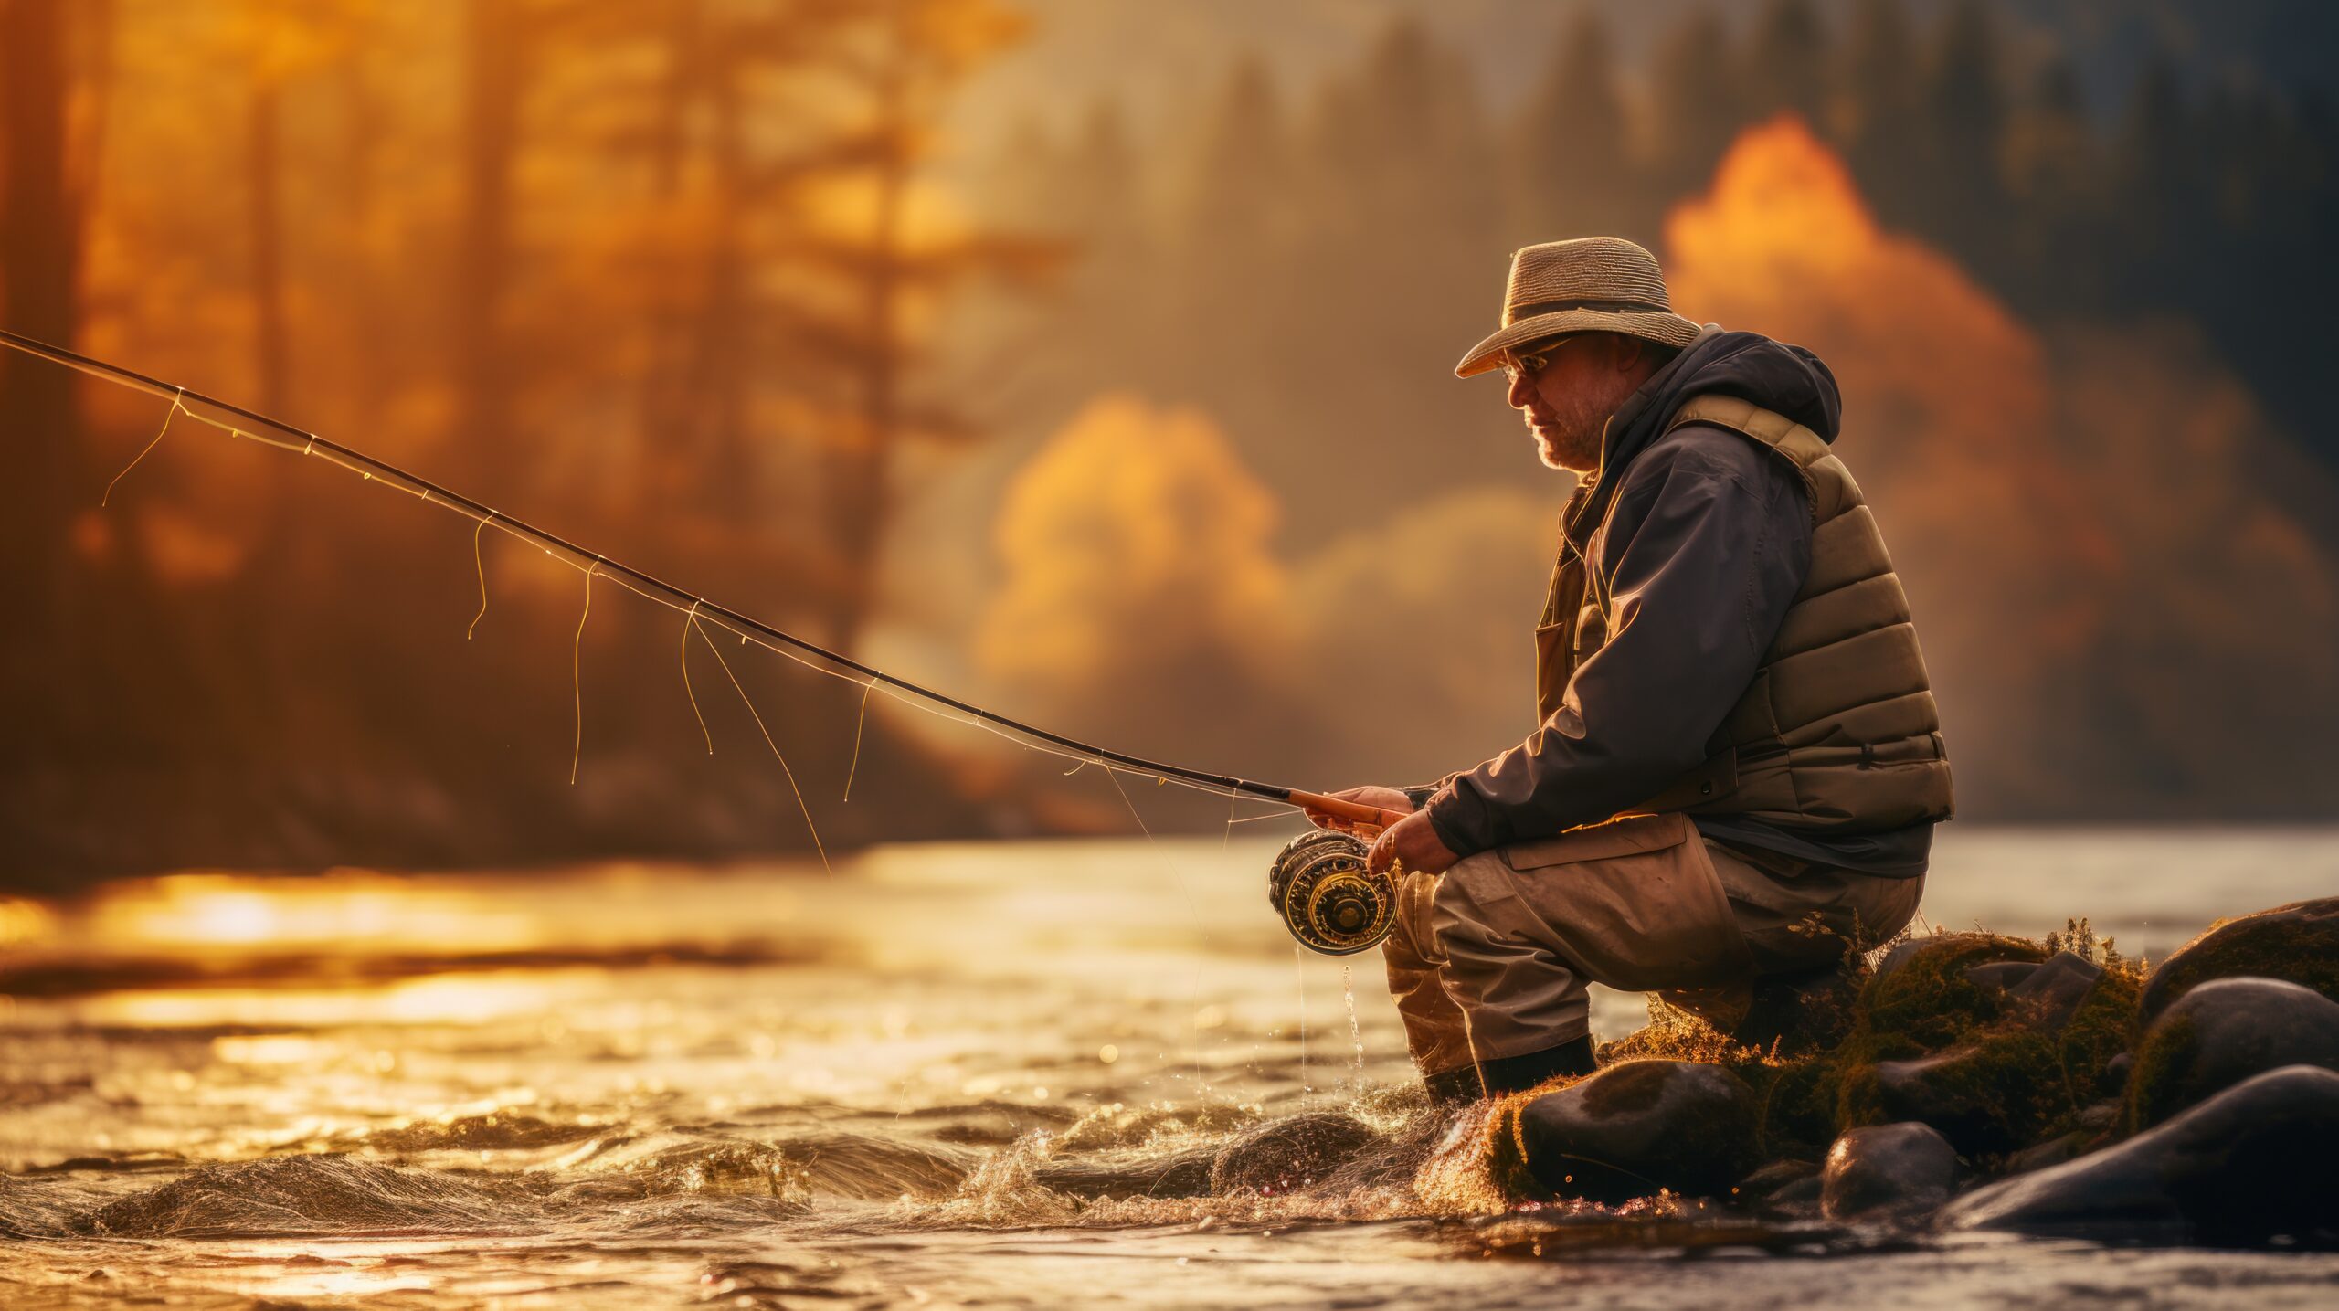
<instances>
[{"instance_id":1,"label":"tan quilted vest worn over the man's dark jacket","mask_svg":"<svg viewBox=\"0 0 2339 1311\"><path fill-rule=\"evenodd\" d=\"M1817 432L1745 400L1691 397L1665 430L1684 423L1738 432L1803 479L1810 573L1707 759L1621 813L1743 813L1845 834L1951 818L1948 750L1909 596L1852 472ZM1539 720L1607 633L1609 596L1562 537L1534 631Z\"/></svg>"}]
</instances>

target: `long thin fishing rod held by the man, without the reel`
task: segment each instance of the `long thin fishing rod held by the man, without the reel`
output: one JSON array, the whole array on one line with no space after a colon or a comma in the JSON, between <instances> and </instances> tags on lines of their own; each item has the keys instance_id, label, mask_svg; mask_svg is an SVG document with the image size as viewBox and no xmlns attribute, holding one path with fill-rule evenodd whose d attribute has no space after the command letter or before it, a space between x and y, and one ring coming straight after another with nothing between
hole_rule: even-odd
<instances>
[{"instance_id":1,"label":"long thin fishing rod held by the man, without the reel","mask_svg":"<svg viewBox=\"0 0 2339 1311\"><path fill-rule=\"evenodd\" d=\"M1212 792L1221 792L1221 795L1249 795L1249 797L1261 797L1261 799L1268 799L1268 802L1279 802L1279 804L1286 804L1286 806L1305 806L1305 809L1312 809L1312 811L1322 811L1322 813L1336 816L1336 818L1347 820L1352 825L1389 827L1389 825L1394 825L1396 820L1403 818L1403 813L1399 813L1399 811L1387 811L1387 809L1380 809L1380 806L1364 806L1359 802L1345 802L1340 797L1326 797L1322 792L1308 792L1308 790L1300 790L1300 788L1279 788L1275 783L1258 783L1258 781L1251 781L1251 778L1235 778L1235 776L1228 776L1228 774L1209 774L1209 771L1202 771L1202 769L1186 769L1186 767L1179 767L1179 764L1165 764L1165 762L1146 759L1146 757L1139 757L1139 755L1106 750L1102 745L1083 743L1083 741L1069 738L1064 734L1055 734L1055 731L1048 731L1048 729L1041 729L1041 727L1034 727L1034 724L1024 724L1022 720L1010 720L1010 717L1006 717L1006 715L1001 715L996 710L985 710L982 706L973 706L973 703L961 701L957 696L936 692L931 687L922 687L917 682L910 682L908 678L891 675L891 673L886 673L882 668L875 668L870 664L863 664L863 661L858 661L854 657L847 657L847 654L833 652L833 650L828 650L828 647L823 647L819 643L798 638L795 633L784 633L784 631L774 629L772 624L765 624L760 619L753 619L753 617L741 615L737 610L730 610L725 605L716 605L713 601L706 601L704 596L699 596L695 591L685 591L685 589L674 587L674 584L669 584L664 580L650 577L648 573L641 573L639 568L632 568L632 566L627 566L622 561L613 561L613 559L608 559L603 554L587 552L585 547L578 547L575 542L571 542L566 537L559 537L554 533L547 533L547 530L543 530L543 528L538 528L538 526L533 526L533 523L529 523L524 519L512 519L510 514L503 514L501 509L489 509L487 505L479 505L477 500L472 500L468 495L447 491L444 486L440 486L440 484L435 484L435 481L430 481L430 479L426 479L421 474L412 474L412 472L407 472L407 470L402 470L398 465L391 465L386 460L377 460L374 456L367 456L365 451L356 451L356 449L344 446L339 442L330 442L325 437L318 437L316 432L306 432L302 428L292 428L290 423L283 423L278 418L269 418L267 414L257 414L253 409L243 409L241 404L232 404L232 402L225 402L225 400L218 400L218 397L211 397L211 395L203 395L203 393L196 393L196 390L187 390L187 388L182 388L178 383L164 383L159 379L150 379L150 376L138 374L133 369L124 369L122 365L110 365L105 360L94 360L89 355L80 355L75 351L65 351L63 346L51 346L47 341L37 341L33 337L21 337L16 332L0 330L0 346L12 346L16 351L23 351L26 355L47 360L51 365L63 365L68 369L77 369L77 372L89 374L94 379L103 379L108 383L115 383L115 386L122 386L122 388L129 388L129 390L136 390L136 393L152 395L157 400L168 400L173 414L187 414L189 418L194 418L199 423L208 423L213 428L222 428L222 430L227 430L227 432L232 432L236 437L250 437L253 442L262 442L262 444L276 446L278 451L297 451L302 456L318 456L318 458L330 460L330 463L334 463L334 465L339 465L339 467L344 467L349 472L356 472L356 474L365 477L367 481L379 481L379 484L386 484L386 486L395 486L400 491L407 491L407 493L421 498L428 505L437 505L442 509L451 509L451 512L470 519L479 528L494 526L494 528L498 528L503 533L510 533L512 537L519 537L522 542L529 542L529 544L543 549L547 556L554 556L554 559L559 559L559 561L564 561L564 563L568 563L568 566L573 566L578 570L585 570L587 577L610 577L610 580L615 580L617 584L622 584L629 591L648 596L650 601L657 601L660 605L667 605L671 610L681 610L692 622L702 622L702 619L704 622L713 622L713 624L718 624L723 629L730 629L741 640L758 638L763 645L779 643L774 650L784 650L784 654L786 654L786 650L802 652L802 654L807 654L807 657L812 657L816 661L823 661L823 664L828 664L833 668L858 673L858 675L868 678L870 682L877 682L877 685L884 685L884 687L893 687L898 692L905 692L910 696L931 701L936 706L947 706L947 708L959 710L964 715L973 715L975 720L980 720L985 724L994 724L996 729L1006 729L1010 734L1020 734L1020 736L1031 738L1031 741L1050 743L1055 748L1062 748L1064 752L1071 752L1074 757L1095 759L1099 764L1120 767L1120 769L1127 769L1132 774L1144 774L1144 776L1151 776L1151 778L1191 783L1191 785L1198 785L1198 788L1205 788L1205 790L1212 790ZM161 442L161 435L157 435L154 442ZM147 449L152 449L152 444ZM143 456L143 451L140 451L140 456ZM136 460L133 460L133 465L136 465Z\"/></svg>"}]
</instances>

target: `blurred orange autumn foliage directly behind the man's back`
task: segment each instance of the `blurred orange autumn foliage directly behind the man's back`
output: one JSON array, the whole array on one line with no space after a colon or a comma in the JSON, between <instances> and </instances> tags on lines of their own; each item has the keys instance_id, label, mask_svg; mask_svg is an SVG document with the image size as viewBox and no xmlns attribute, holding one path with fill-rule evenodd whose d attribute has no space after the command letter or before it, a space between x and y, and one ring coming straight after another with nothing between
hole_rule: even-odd
<instances>
[{"instance_id":1,"label":"blurred orange autumn foliage directly behind the man's back","mask_svg":"<svg viewBox=\"0 0 2339 1311\"><path fill-rule=\"evenodd\" d=\"M1967 802L2084 804L2093 752L2213 795L2210 762L2266 722L2252 666L2330 713L2332 563L2266 500L2262 421L2199 344L2042 337L1883 231L1794 117L1738 138L1665 243L1684 313L1836 372L1841 449L1909 584Z\"/></svg>"}]
</instances>

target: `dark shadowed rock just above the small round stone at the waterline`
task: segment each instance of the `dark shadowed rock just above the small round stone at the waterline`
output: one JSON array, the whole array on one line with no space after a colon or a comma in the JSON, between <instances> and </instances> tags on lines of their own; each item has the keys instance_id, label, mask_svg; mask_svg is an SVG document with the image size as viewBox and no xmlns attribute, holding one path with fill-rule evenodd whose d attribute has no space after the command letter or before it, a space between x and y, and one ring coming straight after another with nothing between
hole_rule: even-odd
<instances>
[{"instance_id":1,"label":"dark shadowed rock just above the small round stone at the waterline","mask_svg":"<svg viewBox=\"0 0 2339 1311\"><path fill-rule=\"evenodd\" d=\"M1918 1119L1969 1157L2033 1143L2068 1105L2054 1103L2056 1047L2028 1028L1990 1033L1913 1061L1876 1066L1876 1105L1888 1119Z\"/></svg>"}]
</instances>

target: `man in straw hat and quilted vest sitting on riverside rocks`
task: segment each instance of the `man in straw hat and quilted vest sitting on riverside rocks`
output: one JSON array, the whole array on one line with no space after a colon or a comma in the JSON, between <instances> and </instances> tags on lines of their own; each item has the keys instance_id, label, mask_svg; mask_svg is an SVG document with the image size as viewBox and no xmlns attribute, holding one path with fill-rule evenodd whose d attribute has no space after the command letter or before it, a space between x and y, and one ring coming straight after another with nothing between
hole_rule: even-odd
<instances>
[{"instance_id":1,"label":"man in straw hat and quilted vest sitting on riverside rocks","mask_svg":"<svg viewBox=\"0 0 2339 1311\"><path fill-rule=\"evenodd\" d=\"M1581 474L1537 645L1537 729L1373 841L1385 944L1441 1101L1593 1070L1586 984L1726 1033L1916 914L1948 757L1909 601L1836 458L1815 355L1672 313L1656 259L1593 236L1513 257L1502 367L1546 465ZM1338 825L1312 813L1319 825Z\"/></svg>"}]
</instances>

